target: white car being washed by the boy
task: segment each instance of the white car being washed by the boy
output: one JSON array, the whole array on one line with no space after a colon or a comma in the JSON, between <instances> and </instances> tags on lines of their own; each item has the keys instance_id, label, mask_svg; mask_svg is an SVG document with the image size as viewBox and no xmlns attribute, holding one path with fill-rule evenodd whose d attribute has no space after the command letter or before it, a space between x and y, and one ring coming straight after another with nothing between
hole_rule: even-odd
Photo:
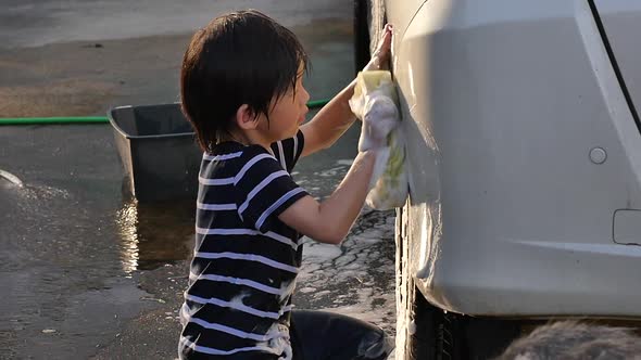
<instances>
[{"instance_id":1,"label":"white car being washed by the boy","mask_svg":"<svg viewBox=\"0 0 641 360\"><path fill-rule=\"evenodd\" d=\"M356 29L394 25L409 139L397 359L489 358L549 319L638 325L641 1L356 3Z\"/></svg>"}]
</instances>

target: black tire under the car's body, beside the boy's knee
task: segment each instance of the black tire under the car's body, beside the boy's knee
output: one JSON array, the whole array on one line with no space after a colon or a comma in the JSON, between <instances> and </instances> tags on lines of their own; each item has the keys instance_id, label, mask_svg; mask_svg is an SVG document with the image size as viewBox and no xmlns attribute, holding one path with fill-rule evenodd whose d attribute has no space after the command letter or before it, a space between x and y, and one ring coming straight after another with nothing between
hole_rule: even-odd
<instances>
[{"instance_id":1,"label":"black tire under the car's body, beside the boy's knee","mask_svg":"<svg viewBox=\"0 0 641 360\"><path fill-rule=\"evenodd\" d=\"M520 334L520 322L445 312L427 301L407 260L405 210L397 210L397 359L494 358Z\"/></svg>"}]
</instances>

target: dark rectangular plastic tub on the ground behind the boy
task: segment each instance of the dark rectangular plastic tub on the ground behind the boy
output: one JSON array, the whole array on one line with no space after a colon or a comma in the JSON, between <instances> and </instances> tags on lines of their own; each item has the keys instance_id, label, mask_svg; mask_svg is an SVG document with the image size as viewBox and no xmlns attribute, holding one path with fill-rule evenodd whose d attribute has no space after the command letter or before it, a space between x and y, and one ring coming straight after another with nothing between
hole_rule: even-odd
<instances>
[{"instance_id":1,"label":"dark rectangular plastic tub on the ground behind the boy","mask_svg":"<svg viewBox=\"0 0 641 360\"><path fill-rule=\"evenodd\" d=\"M125 190L140 202L196 198L202 152L179 104L118 106L108 116Z\"/></svg>"}]
</instances>

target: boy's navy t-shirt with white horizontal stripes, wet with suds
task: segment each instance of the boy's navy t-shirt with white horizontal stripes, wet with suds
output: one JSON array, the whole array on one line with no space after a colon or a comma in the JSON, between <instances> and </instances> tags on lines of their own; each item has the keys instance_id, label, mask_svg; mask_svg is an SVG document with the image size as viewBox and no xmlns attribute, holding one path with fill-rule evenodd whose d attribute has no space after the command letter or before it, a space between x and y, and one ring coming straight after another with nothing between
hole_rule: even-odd
<instances>
[{"instance_id":1,"label":"boy's navy t-shirt with white horizontal stripes, wet with suds","mask_svg":"<svg viewBox=\"0 0 641 360\"><path fill-rule=\"evenodd\" d=\"M278 215L307 193L290 172L301 131L272 144L216 145L203 155L196 248L180 311L185 359L290 359L299 233Z\"/></svg>"}]
</instances>

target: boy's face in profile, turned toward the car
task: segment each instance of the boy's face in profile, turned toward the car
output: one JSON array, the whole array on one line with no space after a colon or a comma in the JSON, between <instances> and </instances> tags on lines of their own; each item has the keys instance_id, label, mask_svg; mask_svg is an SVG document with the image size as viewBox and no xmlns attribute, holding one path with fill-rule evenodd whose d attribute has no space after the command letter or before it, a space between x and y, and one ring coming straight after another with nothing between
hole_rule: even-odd
<instances>
[{"instance_id":1,"label":"boy's face in profile, turned toward the car","mask_svg":"<svg viewBox=\"0 0 641 360\"><path fill-rule=\"evenodd\" d=\"M309 112L307 101L310 94L303 87L303 69L299 68L299 76L296 82L296 93L289 89L280 99L275 100L269 112L269 124L263 121L264 131L268 133L272 141L278 141L296 136L300 125L305 120Z\"/></svg>"}]
</instances>

